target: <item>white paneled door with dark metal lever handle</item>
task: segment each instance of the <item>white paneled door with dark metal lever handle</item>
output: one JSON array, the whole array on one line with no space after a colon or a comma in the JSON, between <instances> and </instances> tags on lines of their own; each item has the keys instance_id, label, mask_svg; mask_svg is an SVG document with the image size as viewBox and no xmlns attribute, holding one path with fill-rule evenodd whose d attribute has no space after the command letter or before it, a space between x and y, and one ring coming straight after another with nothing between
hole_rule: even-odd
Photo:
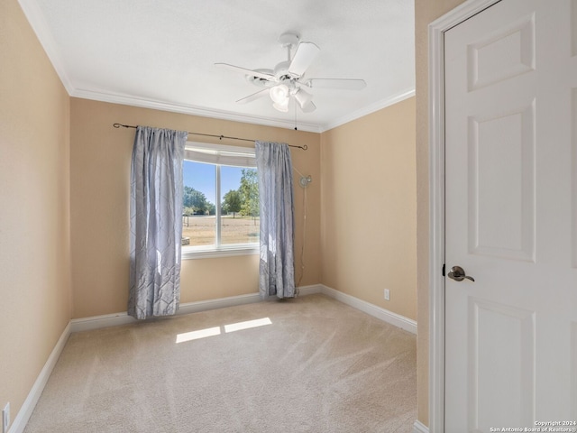
<instances>
[{"instance_id":1,"label":"white paneled door with dark metal lever handle","mask_svg":"<svg viewBox=\"0 0 577 433\"><path fill-rule=\"evenodd\" d=\"M577 420L576 23L502 0L444 34L447 433Z\"/></svg>"}]
</instances>

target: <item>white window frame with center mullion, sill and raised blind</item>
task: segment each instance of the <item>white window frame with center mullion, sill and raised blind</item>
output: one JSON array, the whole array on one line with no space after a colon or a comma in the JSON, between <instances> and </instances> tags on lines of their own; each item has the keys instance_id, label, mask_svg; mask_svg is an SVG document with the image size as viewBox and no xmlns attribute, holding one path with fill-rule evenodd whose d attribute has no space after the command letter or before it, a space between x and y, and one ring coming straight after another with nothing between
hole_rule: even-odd
<instances>
[{"instance_id":1,"label":"white window frame with center mullion, sill and raised blind","mask_svg":"<svg viewBox=\"0 0 577 433\"><path fill-rule=\"evenodd\" d=\"M186 161L205 162L216 166L216 244L182 245L182 260L230 257L259 253L259 243L221 245L221 203L220 168L222 165L256 168L254 148L228 146L224 144L187 142L184 159Z\"/></svg>"}]
</instances>

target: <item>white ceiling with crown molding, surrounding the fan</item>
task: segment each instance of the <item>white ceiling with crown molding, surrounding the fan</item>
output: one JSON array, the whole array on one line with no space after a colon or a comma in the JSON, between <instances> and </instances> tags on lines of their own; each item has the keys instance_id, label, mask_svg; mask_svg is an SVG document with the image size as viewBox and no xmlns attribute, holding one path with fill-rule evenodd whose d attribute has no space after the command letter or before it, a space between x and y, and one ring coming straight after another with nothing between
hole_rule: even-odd
<instances>
[{"instance_id":1,"label":"white ceiling with crown molding, surrounding the fan","mask_svg":"<svg viewBox=\"0 0 577 433\"><path fill-rule=\"evenodd\" d=\"M72 97L322 132L414 95L413 0L20 0ZM307 78L363 78L360 91L311 89L316 111L280 113L243 74L273 69L283 32L315 42ZM296 116L296 119L295 119ZM122 123L123 119L118 119ZM163 125L155 125L163 126Z\"/></svg>"}]
</instances>

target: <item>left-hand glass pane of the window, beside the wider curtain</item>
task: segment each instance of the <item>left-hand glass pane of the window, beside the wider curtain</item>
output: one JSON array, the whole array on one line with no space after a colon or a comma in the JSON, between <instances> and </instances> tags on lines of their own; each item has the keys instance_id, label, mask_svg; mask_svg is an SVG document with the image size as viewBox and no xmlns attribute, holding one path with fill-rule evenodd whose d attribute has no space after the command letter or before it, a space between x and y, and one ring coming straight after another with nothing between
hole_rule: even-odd
<instances>
[{"instance_id":1,"label":"left-hand glass pane of the window, beside the wider curtain","mask_svg":"<svg viewBox=\"0 0 577 433\"><path fill-rule=\"evenodd\" d=\"M216 243L216 166L184 161L182 196L182 244Z\"/></svg>"}]
</instances>

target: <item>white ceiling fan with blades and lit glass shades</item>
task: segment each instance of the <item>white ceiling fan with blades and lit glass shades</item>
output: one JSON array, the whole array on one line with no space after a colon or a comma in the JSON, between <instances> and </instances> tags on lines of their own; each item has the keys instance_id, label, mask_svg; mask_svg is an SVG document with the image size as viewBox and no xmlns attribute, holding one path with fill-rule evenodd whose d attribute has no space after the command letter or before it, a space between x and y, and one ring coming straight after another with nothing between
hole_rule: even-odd
<instances>
[{"instance_id":1,"label":"white ceiling fan with blades and lit glass shades","mask_svg":"<svg viewBox=\"0 0 577 433\"><path fill-rule=\"evenodd\" d=\"M242 72L253 85L263 88L248 97L236 101L239 104L252 102L260 97L270 96L272 106L281 112L289 111L290 97L294 97L304 113L316 110L313 96L305 88L335 88L361 90L366 86L363 79L354 78L305 78L308 67L313 63L320 49L313 42L301 41L297 33L280 35L279 43L287 49L287 60L281 61L274 69L245 69L228 63L215 66ZM297 47L295 55L291 51Z\"/></svg>"}]
</instances>

